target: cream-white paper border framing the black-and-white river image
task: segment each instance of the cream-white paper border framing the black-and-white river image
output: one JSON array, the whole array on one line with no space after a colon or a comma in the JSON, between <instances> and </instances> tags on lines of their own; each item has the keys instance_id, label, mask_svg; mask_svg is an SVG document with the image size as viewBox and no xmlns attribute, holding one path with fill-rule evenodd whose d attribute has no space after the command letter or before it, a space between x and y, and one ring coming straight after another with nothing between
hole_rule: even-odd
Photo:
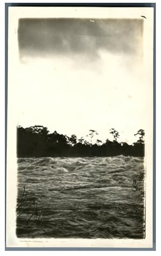
<instances>
[{"instance_id":1,"label":"cream-white paper border framing the black-and-white river image","mask_svg":"<svg viewBox=\"0 0 161 256\"><path fill-rule=\"evenodd\" d=\"M76 11L77 10L77 11ZM146 140L146 234L145 239L18 239L15 235L16 206L16 126L18 119L14 106L14 86L18 75L18 40L19 18L140 18L147 17L144 24L144 67L150 74L151 88L147 88L149 112ZM73 7L9 7L9 58L8 58L8 142L6 175L6 232L8 247L152 247L152 58L153 58L153 8L73 8ZM149 96L151 95L151 96Z\"/></svg>"}]
</instances>

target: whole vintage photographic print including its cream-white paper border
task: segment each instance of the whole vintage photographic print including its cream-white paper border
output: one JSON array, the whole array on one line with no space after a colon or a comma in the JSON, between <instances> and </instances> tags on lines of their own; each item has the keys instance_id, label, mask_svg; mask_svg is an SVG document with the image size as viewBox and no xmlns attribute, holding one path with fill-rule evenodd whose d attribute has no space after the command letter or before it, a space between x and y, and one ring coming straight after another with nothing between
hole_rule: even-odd
<instances>
[{"instance_id":1,"label":"whole vintage photographic print including its cream-white paper border","mask_svg":"<svg viewBox=\"0 0 161 256\"><path fill-rule=\"evenodd\" d=\"M8 47L9 247L152 247L153 8L9 7Z\"/></svg>"}]
</instances>

